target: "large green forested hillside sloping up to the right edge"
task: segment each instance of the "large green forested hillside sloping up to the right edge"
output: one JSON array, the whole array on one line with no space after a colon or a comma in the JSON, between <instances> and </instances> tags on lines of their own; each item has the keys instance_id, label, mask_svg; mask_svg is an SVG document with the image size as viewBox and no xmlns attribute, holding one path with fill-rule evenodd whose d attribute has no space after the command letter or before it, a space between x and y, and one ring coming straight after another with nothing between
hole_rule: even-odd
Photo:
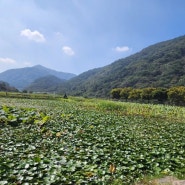
<instances>
[{"instance_id":1,"label":"large green forested hillside sloping up to the right edge","mask_svg":"<svg viewBox=\"0 0 185 185\"><path fill-rule=\"evenodd\" d=\"M108 66L82 73L61 85L58 91L108 97L116 87L177 85L185 85L185 36L157 43Z\"/></svg>"}]
</instances>

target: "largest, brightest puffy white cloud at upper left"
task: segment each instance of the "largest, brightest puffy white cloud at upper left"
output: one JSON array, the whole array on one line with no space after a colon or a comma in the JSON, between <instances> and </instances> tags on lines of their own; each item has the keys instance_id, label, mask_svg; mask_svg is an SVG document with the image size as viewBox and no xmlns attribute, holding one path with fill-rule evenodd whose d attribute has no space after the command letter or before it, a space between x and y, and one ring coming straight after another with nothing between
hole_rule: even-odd
<instances>
[{"instance_id":1,"label":"largest, brightest puffy white cloud at upper left","mask_svg":"<svg viewBox=\"0 0 185 185\"><path fill-rule=\"evenodd\" d=\"M21 31L21 36L27 37L29 40L35 42L45 42L46 39L39 31L31 31L30 29L24 29Z\"/></svg>"}]
</instances>

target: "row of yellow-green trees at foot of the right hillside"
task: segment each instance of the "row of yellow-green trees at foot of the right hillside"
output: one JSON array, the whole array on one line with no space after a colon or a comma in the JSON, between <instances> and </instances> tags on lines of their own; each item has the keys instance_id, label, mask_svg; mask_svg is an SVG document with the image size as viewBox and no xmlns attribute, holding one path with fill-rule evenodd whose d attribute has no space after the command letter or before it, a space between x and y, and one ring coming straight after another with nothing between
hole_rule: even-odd
<instances>
[{"instance_id":1,"label":"row of yellow-green trees at foot of the right hillside","mask_svg":"<svg viewBox=\"0 0 185 185\"><path fill-rule=\"evenodd\" d=\"M111 90L113 99L134 102L162 103L185 105L185 86L161 88L114 88Z\"/></svg>"}]
</instances>

